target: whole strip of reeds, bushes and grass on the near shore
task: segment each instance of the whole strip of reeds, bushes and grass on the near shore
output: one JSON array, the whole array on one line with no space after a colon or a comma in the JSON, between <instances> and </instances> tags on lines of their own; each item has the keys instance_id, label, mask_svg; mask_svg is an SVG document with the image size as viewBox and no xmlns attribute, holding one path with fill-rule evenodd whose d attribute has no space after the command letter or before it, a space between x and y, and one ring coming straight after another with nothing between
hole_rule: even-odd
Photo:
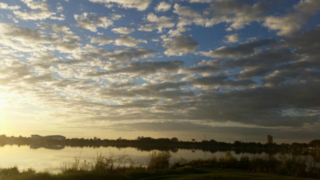
<instances>
[{"instance_id":1,"label":"whole strip of reeds, bushes and grass on the near shore","mask_svg":"<svg viewBox=\"0 0 320 180\"><path fill-rule=\"evenodd\" d=\"M78 156L71 164L61 164L58 174L36 172L32 168L19 171L14 166L0 168L0 179L320 179L320 167L315 162L307 165L305 158L294 155L281 154L279 159L258 156L236 159L226 152L219 158L191 161L179 158L172 163L170 158L169 151L153 151L143 165L127 155L114 158L97 154L91 162L80 162Z\"/></svg>"}]
</instances>

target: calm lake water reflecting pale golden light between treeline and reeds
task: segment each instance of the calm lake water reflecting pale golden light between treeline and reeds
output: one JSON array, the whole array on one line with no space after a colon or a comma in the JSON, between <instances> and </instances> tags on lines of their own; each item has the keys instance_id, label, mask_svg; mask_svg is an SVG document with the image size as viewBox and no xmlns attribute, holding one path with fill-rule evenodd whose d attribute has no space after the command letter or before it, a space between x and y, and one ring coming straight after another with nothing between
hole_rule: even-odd
<instances>
[{"instance_id":1,"label":"calm lake water reflecting pale golden light between treeline and reeds","mask_svg":"<svg viewBox=\"0 0 320 180\"><path fill-rule=\"evenodd\" d=\"M33 167L37 171L48 170L50 172L59 172L59 167L64 163L74 162L74 157L80 154L80 163L86 159L87 161L93 161L96 154L102 153L104 156L113 154L113 157L119 157L123 154L128 154L136 163L146 164L149 151L137 150L135 147L70 147L65 146L61 149L49 149L44 147L34 147L29 145L4 145L0 147L0 167L10 167L17 165L20 170L28 167ZM235 154L231 151L232 155L239 159L242 155L253 156L252 153L240 153ZM178 149L177 152L171 152L172 159L183 157L187 160L198 158L209 158L212 155L220 157L224 156L225 152L217 151L211 153L209 151L202 150L190 150L190 149ZM257 154L261 157L267 157L268 154Z\"/></svg>"}]
</instances>

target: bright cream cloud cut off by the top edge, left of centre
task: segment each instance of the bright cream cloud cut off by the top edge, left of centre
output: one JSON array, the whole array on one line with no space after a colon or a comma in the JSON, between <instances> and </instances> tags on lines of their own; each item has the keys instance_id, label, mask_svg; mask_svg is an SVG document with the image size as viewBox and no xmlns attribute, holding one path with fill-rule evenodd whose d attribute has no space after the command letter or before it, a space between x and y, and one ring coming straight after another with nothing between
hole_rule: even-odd
<instances>
[{"instance_id":1,"label":"bright cream cloud cut off by the top edge, left of centre","mask_svg":"<svg viewBox=\"0 0 320 180\"><path fill-rule=\"evenodd\" d=\"M100 2L100 3L117 3L122 8L136 8L137 10L145 10L151 0L134 0L134 1L128 1L128 0L89 0L91 2Z\"/></svg>"}]
</instances>

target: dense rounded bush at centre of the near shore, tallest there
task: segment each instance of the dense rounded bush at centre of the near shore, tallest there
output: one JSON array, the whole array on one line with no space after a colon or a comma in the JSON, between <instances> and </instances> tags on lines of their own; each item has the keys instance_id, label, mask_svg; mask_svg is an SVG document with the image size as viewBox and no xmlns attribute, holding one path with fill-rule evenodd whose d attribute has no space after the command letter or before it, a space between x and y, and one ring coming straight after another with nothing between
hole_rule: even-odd
<instances>
[{"instance_id":1,"label":"dense rounded bush at centre of the near shore, tallest there","mask_svg":"<svg viewBox=\"0 0 320 180\"><path fill-rule=\"evenodd\" d=\"M149 169L169 168L171 153L169 151L152 151L148 156Z\"/></svg>"}]
</instances>

